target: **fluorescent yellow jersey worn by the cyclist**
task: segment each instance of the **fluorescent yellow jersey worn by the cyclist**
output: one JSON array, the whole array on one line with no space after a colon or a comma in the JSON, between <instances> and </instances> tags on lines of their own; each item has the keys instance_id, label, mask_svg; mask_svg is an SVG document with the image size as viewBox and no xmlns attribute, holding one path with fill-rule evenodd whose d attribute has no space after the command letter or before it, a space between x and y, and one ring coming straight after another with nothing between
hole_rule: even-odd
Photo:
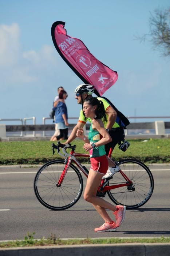
<instances>
[{"instance_id":1,"label":"fluorescent yellow jersey worn by the cyclist","mask_svg":"<svg viewBox=\"0 0 170 256\"><path fill-rule=\"evenodd\" d=\"M107 110L111 107L111 105L106 101L106 99L103 99L103 98L100 98L100 97L97 97L97 99L98 99L99 101L102 101L102 102L103 102L104 110L105 110L105 113L106 113ZM106 118L107 118L107 120L108 120L108 114L107 114L107 113L106 113ZM91 118L90 118L90 117L87 117L87 118L86 118L86 117L84 116L84 114L83 114L83 110L81 109L81 110L80 110L80 115L79 115L79 120L78 120L78 122L86 124L87 121L89 121L89 122L91 123ZM107 122L104 121L103 119L102 119L102 121L103 121L103 124L104 124L104 128L106 128ZM114 125L112 126L112 128L118 128L118 127L120 127L120 126L119 126L119 124L116 123L116 122L115 122Z\"/></svg>"}]
</instances>

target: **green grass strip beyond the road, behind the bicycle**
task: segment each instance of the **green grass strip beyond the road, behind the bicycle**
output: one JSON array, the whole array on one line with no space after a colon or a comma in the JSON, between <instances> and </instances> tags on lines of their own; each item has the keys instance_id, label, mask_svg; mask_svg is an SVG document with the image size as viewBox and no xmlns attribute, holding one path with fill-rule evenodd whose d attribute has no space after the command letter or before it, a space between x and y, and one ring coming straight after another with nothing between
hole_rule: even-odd
<instances>
[{"instance_id":1,"label":"green grass strip beyond the road, behind the bicycle","mask_svg":"<svg viewBox=\"0 0 170 256\"><path fill-rule=\"evenodd\" d=\"M128 140L130 147L126 152L115 147L112 156L118 159L135 158L144 163L170 163L170 139ZM44 164L60 158L52 155L50 141L15 141L0 142L0 165ZM55 143L56 144L56 143ZM86 153L82 140L74 140L76 152ZM89 163L89 158L79 158L82 163Z\"/></svg>"}]
</instances>

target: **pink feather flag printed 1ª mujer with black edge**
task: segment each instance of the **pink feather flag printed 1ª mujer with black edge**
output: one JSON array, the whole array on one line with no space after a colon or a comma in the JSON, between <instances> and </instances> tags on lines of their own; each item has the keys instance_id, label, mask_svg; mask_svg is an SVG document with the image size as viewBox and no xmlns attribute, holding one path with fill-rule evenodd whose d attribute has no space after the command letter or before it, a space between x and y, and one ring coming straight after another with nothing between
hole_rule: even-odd
<instances>
[{"instance_id":1,"label":"pink feather flag printed 1\u00aa mujer with black edge","mask_svg":"<svg viewBox=\"0 0 170 256\"><path fill-rule=\"evenodd\" d=\"M56 21L51 27L56 50L84 83L92 84L95 93L102 96L118 79L118 74L97 60L84 43L67 35L65 22Z\"/></svg>"}]
</instances>

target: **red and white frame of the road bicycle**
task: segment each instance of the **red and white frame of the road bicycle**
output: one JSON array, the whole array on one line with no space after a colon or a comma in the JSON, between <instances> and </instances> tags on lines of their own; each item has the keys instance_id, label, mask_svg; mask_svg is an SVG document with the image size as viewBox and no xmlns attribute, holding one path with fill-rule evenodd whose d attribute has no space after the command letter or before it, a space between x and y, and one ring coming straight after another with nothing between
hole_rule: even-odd
<instances>
[{"instance_id":1,"label":"red and white frame of the road bicycle","mask_svg":"<svg viewBox=\"0 0 170 256\"><path fill-rule=\"evenodd\" d=\"M65 148L70 147L70 145L66 145L64 148L62 148L63 154L60 153L60 151L58 151L59 155L63 157L65 157L65 162L66 162L66 166L64 167L64 170L59 178L58 184L57 186L60 187L64 177L66 176L67 170L71 164L71 162L74 162L78 168L84 173L84 175L86 177L88 177L88 173L86 172L85 169L83 169L83 166L81 165L81 163L76 159L76 157L90 157L89 154L80 154L80 153L75 153L74 149L71 150L70 154L67 153ZM108 154L108 157L111 157L111 152L112 149L110 149L110 152ZM132 182L131 180L129 180L129 178L122 172L122 170L119 170L119 173L123 176L123 178L126 180L126 182L122 183L122 184L116 184L116 185L107 185L108 181L110 180L108 179L102 179L101 184L98 188L98 192L107 192L108 190L111 189L115 189L115 188L120 188L120 187L125 187L125 186L131 186Z\"/></svg>"}]
</instances>

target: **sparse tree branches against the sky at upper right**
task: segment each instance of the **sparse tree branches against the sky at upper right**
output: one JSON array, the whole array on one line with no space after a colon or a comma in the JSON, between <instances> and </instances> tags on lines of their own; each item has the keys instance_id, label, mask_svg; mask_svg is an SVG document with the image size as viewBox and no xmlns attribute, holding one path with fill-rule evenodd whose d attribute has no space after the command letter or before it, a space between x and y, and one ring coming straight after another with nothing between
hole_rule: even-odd
<instances>
[{"instance_id":1,"label":"sparse tree branches against the sky at upper right","mask_svg":"<svg viewBox=\"0 0 170 256\"><path fill-rule=\"evenodd\" d=\"M159 50L163 56L170 56L170 8L164 11L156 9L154 14L150 14L149 27L149 34L137 39L148 39L155 50Z\"/></svg>"}]
</instances>

